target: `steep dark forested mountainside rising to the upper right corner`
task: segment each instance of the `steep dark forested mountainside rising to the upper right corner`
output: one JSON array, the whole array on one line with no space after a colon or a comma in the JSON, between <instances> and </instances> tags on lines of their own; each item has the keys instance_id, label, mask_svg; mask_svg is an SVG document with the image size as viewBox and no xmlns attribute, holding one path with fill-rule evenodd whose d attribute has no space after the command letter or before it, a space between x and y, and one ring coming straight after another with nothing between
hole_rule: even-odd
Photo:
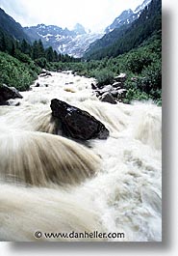
<instances>
[{"instance_id":1,"label":"steep dark forested mountainside rising to the upper right corner","mask_svg":"<svg viewBox=\"0 0 178 256\"><path fill-rule=\"evenodd\" d=\"M139 17L132 23L122 24L102 39L90 44L84 55L85 59L102 59L115 57L140 45L162 28L162 1L148 1L136 9ZM144 9L143 9L143 6ZM131 13L131 12L130 12Z\"/></svg>"}]
</instances>

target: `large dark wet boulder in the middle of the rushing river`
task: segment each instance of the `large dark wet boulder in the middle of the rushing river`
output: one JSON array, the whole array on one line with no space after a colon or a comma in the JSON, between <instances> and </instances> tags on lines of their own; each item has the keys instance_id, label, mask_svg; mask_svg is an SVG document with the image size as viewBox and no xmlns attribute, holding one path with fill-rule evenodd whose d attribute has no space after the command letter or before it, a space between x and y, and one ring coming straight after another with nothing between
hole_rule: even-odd
<instances>
[{"instance_id":1,"label":"large dark wet boulder in the middle of the rushing river","mask_svg":"<svg viewBox=\"0 0 178 256\"><path fill-rule=\"evenodd\" d=\"M58 118L65 135L75 139L107 139L109 130L87 111L67 104L62 100L51 100L52 116Z\"/></svg>"}]
</instances>

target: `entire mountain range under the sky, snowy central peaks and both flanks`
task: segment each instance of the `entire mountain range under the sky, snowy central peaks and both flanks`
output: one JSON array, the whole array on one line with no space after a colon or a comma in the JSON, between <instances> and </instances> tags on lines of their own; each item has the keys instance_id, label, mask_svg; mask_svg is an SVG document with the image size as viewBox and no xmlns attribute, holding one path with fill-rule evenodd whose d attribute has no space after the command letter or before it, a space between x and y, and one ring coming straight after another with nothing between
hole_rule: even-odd
<instances>
[{"instance_id":1,"label":"entire mountain range under the sky, snowy central peaks and both flanks","mask_svg":"<svg viewBox=\"0 0 178 256\"><path fill-rule=\"evenodd\" d=\"M58 53L81 58L86 52L89 56L93 52L111 46L123 37L125 31L140 17L150 1L144 0L134 12L131 9L122 12L105 29L105 33L100 34L86 32L85 28L79 23L75 25L73 30L45 24L22 28L19 23L15 22L11 16L1 9L0 29L2 28L17 40L25 39L27 42L41 40L45 47L52 46Z\"/></svg>"}]
</instances>

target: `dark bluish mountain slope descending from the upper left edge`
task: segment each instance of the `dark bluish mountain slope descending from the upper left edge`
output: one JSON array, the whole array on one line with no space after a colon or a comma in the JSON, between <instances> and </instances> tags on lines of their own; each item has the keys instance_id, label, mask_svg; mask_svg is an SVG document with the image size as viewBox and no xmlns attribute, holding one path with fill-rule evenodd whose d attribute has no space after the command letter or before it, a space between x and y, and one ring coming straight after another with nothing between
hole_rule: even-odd
<instances>
[{"instance_id":1,"label":"dark bluish mountain slope descending from the upper left edge","mask_svg":"<svg viewBox=\"0 0 178 256\"><path fill-rule=\"evenodd\" d=\"M4 10L0 8L0 29L1 31L12 36L14 39L22 41L25 39L30 42L30 38L24 32L22 26L17 23L12 16L6 14Z\"/></svg>"}]
</instances>

